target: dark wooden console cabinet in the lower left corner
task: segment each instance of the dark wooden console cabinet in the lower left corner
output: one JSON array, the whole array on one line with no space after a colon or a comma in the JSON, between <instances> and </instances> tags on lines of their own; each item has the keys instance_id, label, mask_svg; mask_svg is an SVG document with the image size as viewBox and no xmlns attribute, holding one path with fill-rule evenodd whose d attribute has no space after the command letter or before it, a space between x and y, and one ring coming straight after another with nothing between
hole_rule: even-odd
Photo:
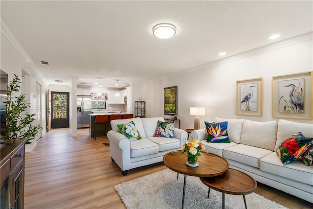
<instances>
[{"instance_id":1,"label":"dark wooden console cabinet in the lower left corner","mask_svg":"<svg viewBox=\"0 0 313 209\"><path fill-rule=\"evenodd\" d=\"M0 145L0 209L23 209L26 139L1 141L11 145Z\"/></svg>"}]
</instances>

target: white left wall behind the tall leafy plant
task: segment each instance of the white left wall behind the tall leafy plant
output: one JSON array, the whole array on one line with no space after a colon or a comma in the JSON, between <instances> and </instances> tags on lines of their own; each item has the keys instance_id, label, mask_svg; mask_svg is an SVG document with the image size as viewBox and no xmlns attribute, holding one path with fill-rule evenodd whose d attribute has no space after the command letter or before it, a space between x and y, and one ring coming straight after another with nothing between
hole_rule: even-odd
<instances>
[{"instance_id":1,"label":"white left wall behind the tall leafy plant","mask_svg":"<svg viewBox=\"0 0 313 209\"><path fill-rule=\"evenodd\" d=\"M46 132L46 117L45 117L45 110L46 110L46 101L45 101L45 92L46 85L44 81L40 78L40 76L36 73L36 71L30 66L29 62L26 62L25 59L22 57L20 52L17 50L12 40L7 39L7 34L5 34L5 28L2 27L1 22L1 62L0 62L0 69L4 72L8 73L8 84L14 78L14 74L17 74L19 78L22 78L22 74L28 74L25 78L25 93L27 95L25 98L27 102L30 102L29 114L36 113L36 99L33 95L36 94L36 82L38 82L42 86L42 124L43 127L42 135ZM27 83L26 83L27 82ZM33 123L36 125L36 122ZM26 152L31 151L36 145L36 139L32 140L32 144L27 144L25 146Z\"/></svg>"}]
</instances>

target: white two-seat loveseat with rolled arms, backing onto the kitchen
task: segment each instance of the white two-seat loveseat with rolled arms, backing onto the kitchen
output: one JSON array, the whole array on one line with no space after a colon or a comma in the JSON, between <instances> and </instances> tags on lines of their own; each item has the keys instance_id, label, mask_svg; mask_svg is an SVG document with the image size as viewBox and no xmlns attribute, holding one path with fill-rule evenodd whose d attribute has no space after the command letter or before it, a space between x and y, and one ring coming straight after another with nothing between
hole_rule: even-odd
<instances>
[{"instance_id":1,"label":"white two-seat loveseat with rolled arms, backing onto the kitchen","mask_svg":"<svg viewBox=\"0 0 313 209\"><path fill-rule=\"evenodd\" d=\"M110 156L127 175L128 170L163 161L166 153L179 150L187 138L187 132L178 128L174 130L174 138L154 137L157 121L164 122L163 117L136 117L130 119L112 120L112 130L108 132L110 140ZM142 139L130 142L122 135L117 124L134 121Z\"/></svg>"}]
</instances>

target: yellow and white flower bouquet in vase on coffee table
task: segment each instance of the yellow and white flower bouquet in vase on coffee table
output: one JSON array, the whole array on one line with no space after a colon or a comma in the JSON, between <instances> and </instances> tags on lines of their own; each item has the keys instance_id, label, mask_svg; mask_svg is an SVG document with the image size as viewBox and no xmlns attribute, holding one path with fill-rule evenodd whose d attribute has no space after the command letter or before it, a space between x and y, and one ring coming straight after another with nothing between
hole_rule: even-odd
<instances>
[{"instance_id":1,"label":"yellow and white flower bouquet in vase on coffee table","mask_svg":"<svg viewBox=\"0 0 313 209\"><path fill-rule=\"evenodd\" d=\"M205 149L204 145L196 139L193 139L191 142L188 142L188 139L184 140L185 143L182 145L181 154L187 152L186 164L191 167L199 166L199 163L197 163L197 159L201 156L201 150Z\"/></svg>"}]
</instances>

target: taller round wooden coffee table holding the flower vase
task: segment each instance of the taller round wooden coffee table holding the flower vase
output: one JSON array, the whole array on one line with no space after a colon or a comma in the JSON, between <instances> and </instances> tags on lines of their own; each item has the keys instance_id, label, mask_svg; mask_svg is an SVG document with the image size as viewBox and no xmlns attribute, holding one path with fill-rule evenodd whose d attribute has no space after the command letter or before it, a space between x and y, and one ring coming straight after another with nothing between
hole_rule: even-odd
<instances>
[{"instance_id":1,"label":"taller round wooden coffee table holding the flower vase","mask_svg":"<svg viewBox=\"0 0 313 209\"><path fill-rule=\"evenodd\" d=\"M186 161L187 153L181 154L181 151L170 152L163 157L163 162L166 167L185 175L181 208L184 207L187 175L198 177L213 177L225 173L229 167L228 161L226 161L224 158L206 152L201 152L201 156L198 157L197 160L197 162L199 162L199 166L197 167L188 166Z\"/></svg>"}]
</instances>

